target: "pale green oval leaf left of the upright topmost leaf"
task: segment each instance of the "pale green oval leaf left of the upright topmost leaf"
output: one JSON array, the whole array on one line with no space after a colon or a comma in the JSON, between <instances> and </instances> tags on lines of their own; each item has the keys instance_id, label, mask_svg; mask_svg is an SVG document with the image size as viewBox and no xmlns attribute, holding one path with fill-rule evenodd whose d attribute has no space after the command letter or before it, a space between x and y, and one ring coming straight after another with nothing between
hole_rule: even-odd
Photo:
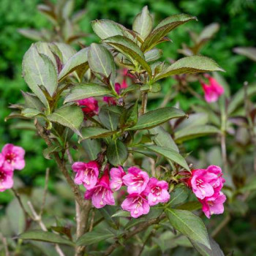
<instances>
[{"instance_id":1,"label":"pale green oval leaf left of the upright topmost leaf","mask_svg":"<svg viewBox=\"0 0 256 256\"><path fill-rule=\"evenodd\" d=\"M114 22L113 20L94 20L91 22L92 29L100 39L123 35L124 26Z\"/></svg>"}]
</instances>

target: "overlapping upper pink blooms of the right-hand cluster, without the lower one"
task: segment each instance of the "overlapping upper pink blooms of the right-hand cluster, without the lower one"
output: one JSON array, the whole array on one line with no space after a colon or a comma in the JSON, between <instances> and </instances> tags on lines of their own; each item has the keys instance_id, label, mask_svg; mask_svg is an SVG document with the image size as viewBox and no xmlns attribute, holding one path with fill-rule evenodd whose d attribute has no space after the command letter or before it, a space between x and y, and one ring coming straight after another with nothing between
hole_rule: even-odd
<instances>
[{"instance_id":1,"label":"overlapping upper pink blooms of the right-hand cluster, without the lower one","mask_svg":"<svg viewBox=\"0 0 256 256\"><path fill-rule=\"evenodd\" d=\"M211 165L207 169L192 170L192 177L189 179L188 184L189 187L192 187L195 195L203 199L219 192L224 182L225 179L222 178L221 168Z\"/></svg>"}]
</instances>

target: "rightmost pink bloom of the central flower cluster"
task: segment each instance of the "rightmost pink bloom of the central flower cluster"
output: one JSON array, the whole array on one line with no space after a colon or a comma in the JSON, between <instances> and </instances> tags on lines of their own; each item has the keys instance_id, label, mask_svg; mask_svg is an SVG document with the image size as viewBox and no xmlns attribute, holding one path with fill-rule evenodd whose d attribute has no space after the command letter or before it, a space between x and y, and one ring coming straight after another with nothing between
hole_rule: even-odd
<instances>
[{"instance_id":1,"label":"rightmost pink bloom of the central flower cluster","mask_svg":"<svg viewBox=\"0 0 256 256\"><path fill-rule=\"evenodd\" d=\"M157 203L166 203L170 200L170 194L167 189L168 184L166 181L150 178L145 189L145 193L148 195L149 206L155 206Z\"/></svg>"}]
</instances>

